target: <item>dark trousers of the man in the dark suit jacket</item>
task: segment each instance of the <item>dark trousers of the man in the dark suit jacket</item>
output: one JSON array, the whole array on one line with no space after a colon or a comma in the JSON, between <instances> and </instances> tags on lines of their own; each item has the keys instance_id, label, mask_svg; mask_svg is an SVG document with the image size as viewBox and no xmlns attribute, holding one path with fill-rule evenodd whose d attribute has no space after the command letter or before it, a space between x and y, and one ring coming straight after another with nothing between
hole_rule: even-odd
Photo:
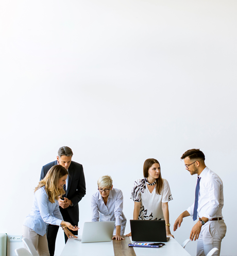
<instances>
[{"instance_id":1,"label":"dark trousers of the man in the dark suit jacket","mask_svg":"<svg viewBox=\"0 0 237 256\"><path fill-rule=\"evenodd\" d=\"M67 213L67 211L65 211L65 209L60 209L63 210L61 211L62 217L64 221L70 222L73 226L77 226L78 223L72 223L72 220L69 216L69 214ZM56 225L48 225L47 226L47 241L48 241L48 250L49 250L49 254L50 256L54 256L54 252L55 252L55 243L56 243L56 237L57 237L57 233L58 233L58 229L59 226ZM70 230L74 235L78 234L78 231L73 231ZM64 238L65 238L65 243L67 241L67 236L64 233Z\"/></svg>"}]
</instances>

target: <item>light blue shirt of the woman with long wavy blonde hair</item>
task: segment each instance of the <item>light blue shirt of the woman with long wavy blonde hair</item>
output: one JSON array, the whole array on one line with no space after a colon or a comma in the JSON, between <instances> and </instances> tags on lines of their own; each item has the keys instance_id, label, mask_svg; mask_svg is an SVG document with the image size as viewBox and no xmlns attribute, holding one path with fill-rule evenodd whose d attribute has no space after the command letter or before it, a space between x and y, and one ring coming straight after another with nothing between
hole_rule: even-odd
<instances>
[{"instance_id":1,"label":"light blue shirt of the woman with long wavy blonde hair","mask_svg":"<svg viewBox=\"0 0 237 256\"><path fill-rule=\"evenodd\" d=\"M43 236L48 224L60 226L62 220L58 200L55 200L54 203L49 202L44 186L36 190L33 207L23 225Z\"/></svg>"}]
</instances>

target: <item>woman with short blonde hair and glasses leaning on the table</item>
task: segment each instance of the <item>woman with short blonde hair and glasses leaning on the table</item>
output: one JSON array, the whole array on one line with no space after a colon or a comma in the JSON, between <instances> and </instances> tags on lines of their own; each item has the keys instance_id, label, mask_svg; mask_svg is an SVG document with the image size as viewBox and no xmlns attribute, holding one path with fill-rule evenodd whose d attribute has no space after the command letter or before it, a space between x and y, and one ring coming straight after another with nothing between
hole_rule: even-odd
<instances>
[{"instance_id":1,"label":"woman with short blonde hair and glasses leaning on the table","mask_svg":"<svg viewBox=\"0 0 237 256\"><path fill-rule=\"evenodd\" d=\"M113 188L113 181L109 175L102 176L97 181L98 191L92 195L92 221L115 221L113 238L124 239L127 219L123 213L123 193Z\"/></svg>"}]
</instances>

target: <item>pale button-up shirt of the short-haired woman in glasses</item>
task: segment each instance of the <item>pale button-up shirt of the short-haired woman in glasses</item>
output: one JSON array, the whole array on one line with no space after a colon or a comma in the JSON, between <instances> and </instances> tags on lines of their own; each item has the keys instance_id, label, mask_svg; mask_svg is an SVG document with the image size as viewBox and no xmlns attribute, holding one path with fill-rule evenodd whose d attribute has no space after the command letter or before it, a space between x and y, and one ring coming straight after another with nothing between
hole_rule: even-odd
<instances>
[{"instance_id":1,"label":"pale button-up shirt of the short-haired woman in glasses","mask_svg":"<svg viewBox=\"0 0 237 256\"><path fill-rule=\"evenodd\" d=\"M92 221L113 221L116 226L121 226L121 234L124 233L127 219L123 213L123 193L118 188L112 188L109 193L107 204L99 191L91 197Z\"/></svg>"}]
</instances>

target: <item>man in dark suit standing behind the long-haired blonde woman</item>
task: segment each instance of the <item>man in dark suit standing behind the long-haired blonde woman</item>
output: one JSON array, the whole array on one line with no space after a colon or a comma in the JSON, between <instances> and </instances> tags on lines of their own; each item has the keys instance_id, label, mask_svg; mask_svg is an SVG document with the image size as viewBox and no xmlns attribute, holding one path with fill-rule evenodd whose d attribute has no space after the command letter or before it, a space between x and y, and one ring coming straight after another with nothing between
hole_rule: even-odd
<instances>
[{"instance_id":1,"label":"man in dark suit standing behind the long-haired blonde woman","mask_svg":"<svg viewBox=\"0 0 237 256\"><path fill-rule=\"evenodd\" d=\"M66 180L66 186L63 187L66 191L64 199L59 198L59 208L63 220L70 222L73 226L78 226L79 208L78 203L84 195L86 195L86 182L84 179L84 172L82 165L72 161L73 152L69 147L61 147L58 150L57 160L44 165L41 170L40 180L44 179L48 170L55 165L62 165L69 172ZM55 242L59 226L48 225L47 241L50 256L54 256ZM77 235L77 231L72 231ZM67 236L65 236L65 243Z\"/></svg>"}]
</instances>

